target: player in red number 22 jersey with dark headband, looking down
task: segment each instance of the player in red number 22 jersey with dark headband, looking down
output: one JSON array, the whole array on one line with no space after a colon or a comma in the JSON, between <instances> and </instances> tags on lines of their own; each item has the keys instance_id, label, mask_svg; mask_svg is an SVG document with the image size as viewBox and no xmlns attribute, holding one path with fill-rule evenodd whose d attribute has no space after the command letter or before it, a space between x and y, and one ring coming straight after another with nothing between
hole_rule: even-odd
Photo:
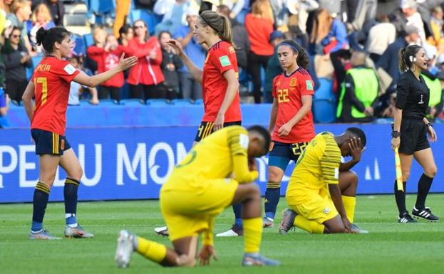
<instances>
[{"instance_id":1,"label":"player in red number 22 jersey with dark headband, looking down","mask_svg":"<svg viewBox=\"0 0 444 274\"><path fill-rule=\"evenodd\" d=\"M291 160L297 161L315 136L311 114L314 84L306 71L309 57L304 48L291 40L279 44L277 55L284 73L273 80L274 100L269 123L273 141L269 148L264 227L274 225L286 166Z\"/></svg>"}]
</instances>

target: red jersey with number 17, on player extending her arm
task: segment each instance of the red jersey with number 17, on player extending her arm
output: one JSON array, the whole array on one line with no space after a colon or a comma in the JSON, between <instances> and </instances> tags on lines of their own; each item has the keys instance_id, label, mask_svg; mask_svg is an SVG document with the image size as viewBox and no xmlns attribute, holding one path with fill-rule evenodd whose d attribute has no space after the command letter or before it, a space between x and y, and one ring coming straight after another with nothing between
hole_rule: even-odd
<instances>
[{"instance_id":1,"label":"red jersey with number 17, on player extending her arm","mask_svg":"<svg viewBox=\"0 0 444 274\"><path fill-rule=\"evenodd\" d=\"M47 130L65 136L66 108L71 81L80 73L68 61L48 56L34 69L36 109L31 129Z\"/></svg>"}]
</instances>

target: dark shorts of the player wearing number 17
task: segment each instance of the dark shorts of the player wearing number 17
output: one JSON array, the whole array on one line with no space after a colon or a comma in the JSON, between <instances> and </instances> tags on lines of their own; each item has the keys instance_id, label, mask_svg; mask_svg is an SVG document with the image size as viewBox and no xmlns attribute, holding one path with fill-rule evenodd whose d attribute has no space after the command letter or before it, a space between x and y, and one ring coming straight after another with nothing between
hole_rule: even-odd
<instances>
[{"instance_id":1,"label":"dark shorts of the player wearing number 17","mask_svg":"<svg viewBox=\"0 0 444 274\"><path fill-rule=\"evenodd\" d=\"M46 130L31 130L31 136L36 143L36 154L52 154L62 156L65 150L71 149L66 137Z\"/></svg>"}]
</instances>

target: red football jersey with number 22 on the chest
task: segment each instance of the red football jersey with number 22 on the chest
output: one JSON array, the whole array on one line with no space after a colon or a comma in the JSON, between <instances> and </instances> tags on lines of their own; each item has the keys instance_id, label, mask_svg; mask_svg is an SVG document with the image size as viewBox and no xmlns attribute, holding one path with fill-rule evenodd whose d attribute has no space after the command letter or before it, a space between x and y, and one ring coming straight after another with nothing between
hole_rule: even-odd
<instances>
[{"instance_id":1,"label":"red football jersey with number 22 on the chest","mask_svg":"<svg viewBox=\"0 0 444 274\"><path fill-rule=\"evenodd\" d=\"M309 73L303 68L291 75L282 73L273 80L273 97L278 102L276 126L273 139L278 142L295 143L309 142L314 138L313 114L311 110L305 115L286 136L279 136L279 128L289 122L302 107L302 96L313 95L314 85Z\"/></svg>"}]
</instances>

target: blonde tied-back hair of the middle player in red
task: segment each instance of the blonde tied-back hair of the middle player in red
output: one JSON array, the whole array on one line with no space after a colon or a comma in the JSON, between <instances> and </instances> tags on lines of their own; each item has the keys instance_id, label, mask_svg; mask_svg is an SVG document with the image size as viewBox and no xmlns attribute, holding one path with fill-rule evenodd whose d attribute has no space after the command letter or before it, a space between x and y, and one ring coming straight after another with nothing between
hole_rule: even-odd
<instances>
[{"instance_id":1,"label":"blonde tied-back hair of the middle player in red","mask_svg":"<svg viewBox=\"0 0 444 274\"><path fill-rule=\"evenodd\" d=\"M231 23L229 23L227 16L217 14L215 11L202 11L200 23L202 23L202 26L210 26L223 41L235 46L231 32Z\"/></svg>"}]
</instances>

